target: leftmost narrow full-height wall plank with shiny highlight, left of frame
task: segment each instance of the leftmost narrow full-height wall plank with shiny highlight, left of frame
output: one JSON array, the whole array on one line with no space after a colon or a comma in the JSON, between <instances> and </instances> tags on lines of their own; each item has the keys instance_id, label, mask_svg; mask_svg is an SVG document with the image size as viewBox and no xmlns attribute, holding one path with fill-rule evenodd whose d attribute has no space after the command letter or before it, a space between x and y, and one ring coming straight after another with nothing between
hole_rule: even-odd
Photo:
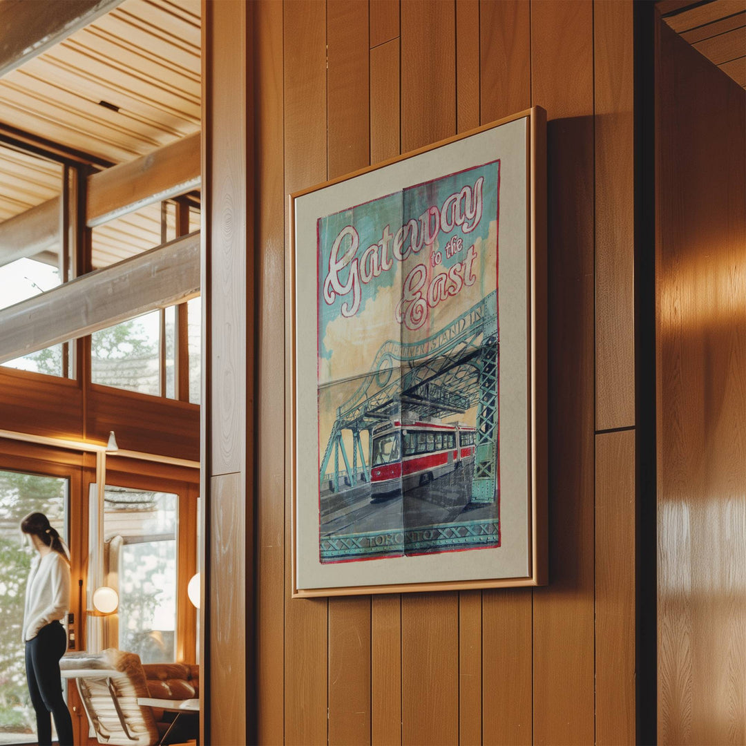
<instances>
[{"instance_id":1,"label":"leftmost narrow full-height wall plank with shiny highlight, left of frame","mask_svg":"<svg viewBox=\"0 0 746 746\"><path fill-rule=\"evenodd\" d=\"M254 7L257 142L257 742L284 735L285 433L283 401L285 281L283 179L283 6Z\"/></svg>"}]
</instances>

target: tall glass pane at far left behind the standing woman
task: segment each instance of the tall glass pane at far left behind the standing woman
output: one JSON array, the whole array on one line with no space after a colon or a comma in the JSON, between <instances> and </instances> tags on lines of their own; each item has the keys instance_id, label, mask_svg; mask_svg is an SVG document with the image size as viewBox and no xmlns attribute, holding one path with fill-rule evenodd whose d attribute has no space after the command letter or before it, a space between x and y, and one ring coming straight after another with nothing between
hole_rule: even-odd
<instances>
[{"instance_id":1,"label":"tall glass pane at far left behind the standing woman","mask_svg":"<svg viewBox=\"0 0 746 746\"><path fill-rule=\"evenodd\" d=\"M22 541L21 519L39 511L67 536L68 481L0 471L0 744L36 742L36 718L26 686L21 625L34 550Z\"/></svg>"}]
</instances>

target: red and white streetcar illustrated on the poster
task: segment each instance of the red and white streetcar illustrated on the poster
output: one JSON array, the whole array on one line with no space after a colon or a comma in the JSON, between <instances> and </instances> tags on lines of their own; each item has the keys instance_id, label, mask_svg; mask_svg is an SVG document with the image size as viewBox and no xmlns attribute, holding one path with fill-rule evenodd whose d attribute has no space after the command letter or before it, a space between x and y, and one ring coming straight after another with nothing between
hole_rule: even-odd
<instances>
[{"instance_id":1,"label":"red and white streetcar illustrated on the poster","mask_svg":"<svg viewBox=\"0 0 746 746\"><path fill-rule=\"evenodd\" d=\"M398 421L371 436L371 495L412 489L474 460L474 427L460 422Z\"/></svg>"}]
</instances>

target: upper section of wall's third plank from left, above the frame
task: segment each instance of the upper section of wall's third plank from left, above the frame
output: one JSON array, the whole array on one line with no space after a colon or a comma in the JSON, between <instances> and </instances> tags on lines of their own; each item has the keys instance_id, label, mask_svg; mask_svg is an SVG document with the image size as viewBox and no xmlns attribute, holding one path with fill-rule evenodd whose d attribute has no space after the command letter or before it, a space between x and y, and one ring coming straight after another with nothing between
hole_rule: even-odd
<instances>
[{"instance_id":1,"label":"upper section of wall's third plank from left, above the frame","mask_svg":"<svg viewBox=\"0 0 746 746\"><path fill-rule=\"evenodd\" d=\"M369 165L368 16L327 2L327 178Z\"/></svg>"}]
</instances>

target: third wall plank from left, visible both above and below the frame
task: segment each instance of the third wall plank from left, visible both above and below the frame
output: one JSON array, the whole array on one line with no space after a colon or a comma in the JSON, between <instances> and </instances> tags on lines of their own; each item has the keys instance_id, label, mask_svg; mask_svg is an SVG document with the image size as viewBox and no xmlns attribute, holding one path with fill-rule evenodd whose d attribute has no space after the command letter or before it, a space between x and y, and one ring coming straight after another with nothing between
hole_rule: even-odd
<instances>
[{"instance_id":1,"label":"third wall plank from left, visible both above and below the frame","mask_svg":"<svg viewBox=\"0 0 746 746\"><path fill-rule=\"evenodd\" d=\"M368 17L327 1L327 178L369 164ZM370 743L371 600L329 599L329 744Z\"/></svg>"}]
</instances>

